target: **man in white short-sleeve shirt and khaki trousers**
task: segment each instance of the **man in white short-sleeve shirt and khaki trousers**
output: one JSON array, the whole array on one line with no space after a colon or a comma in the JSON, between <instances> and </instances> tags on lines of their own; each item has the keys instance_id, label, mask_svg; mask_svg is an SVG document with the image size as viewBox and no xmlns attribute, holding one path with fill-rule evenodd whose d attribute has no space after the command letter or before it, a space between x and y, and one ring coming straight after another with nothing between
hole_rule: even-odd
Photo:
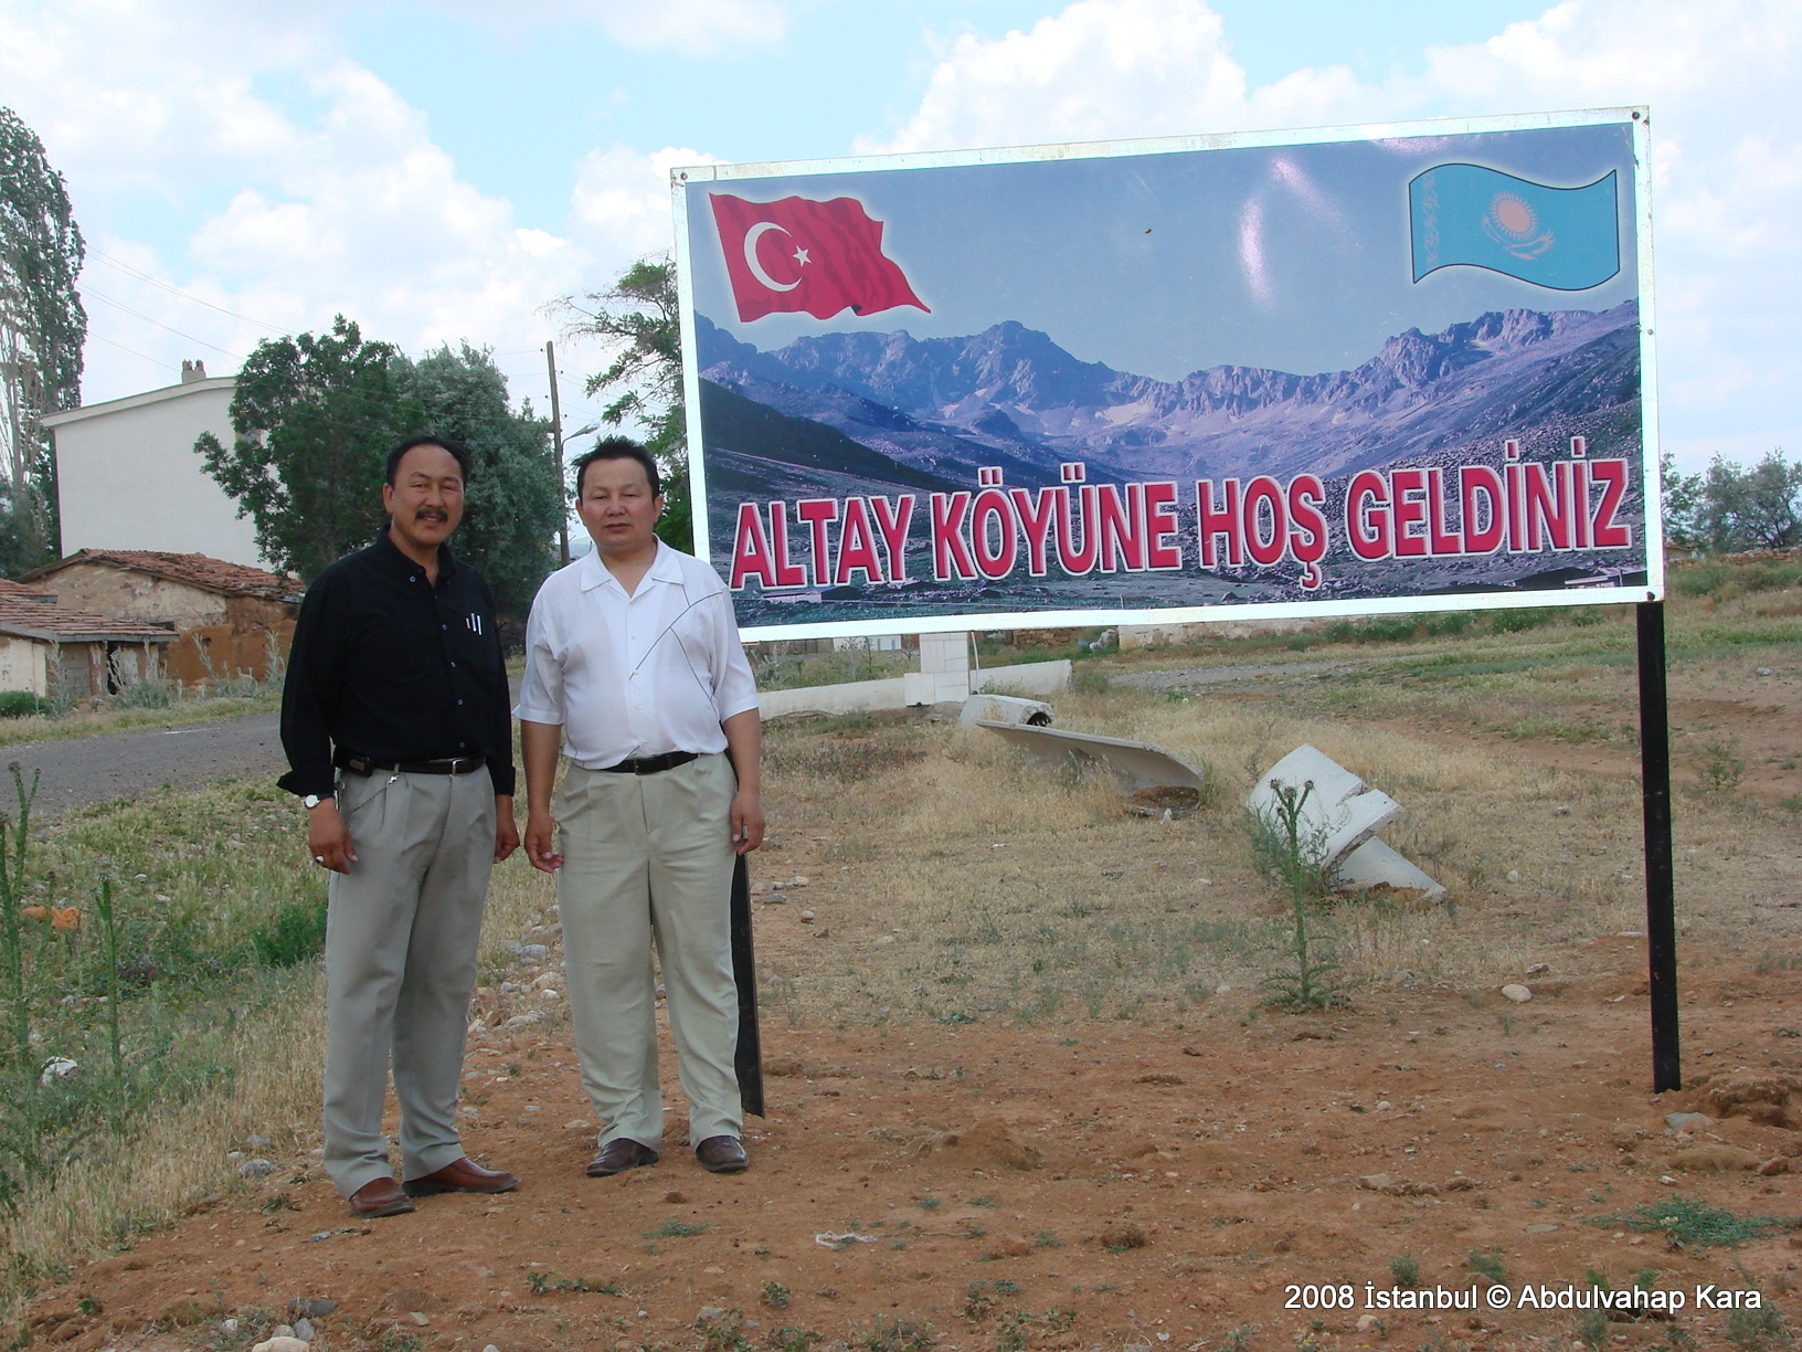
<instances>
[{"instance_id":1,"label":"man in white short-sleeve shirt and khaki trousers","mask_svg":"<svg viewBox=\"0 0 1802 1352\"><path fill-rule=\"evenodd\" d=\"M764 833L757 689L724 584L656 539L661 507L643 447L607 438L577 461L595 553L533 600L515 710L526 853L557 872L577 1058L605 1119L595 1177L652 1165L661 1145L652 943L688 1141L708 1170L750 1163L728 907L733 853ZM569 764L551 802L559 741Z\"/></svg>"}]
</instances>

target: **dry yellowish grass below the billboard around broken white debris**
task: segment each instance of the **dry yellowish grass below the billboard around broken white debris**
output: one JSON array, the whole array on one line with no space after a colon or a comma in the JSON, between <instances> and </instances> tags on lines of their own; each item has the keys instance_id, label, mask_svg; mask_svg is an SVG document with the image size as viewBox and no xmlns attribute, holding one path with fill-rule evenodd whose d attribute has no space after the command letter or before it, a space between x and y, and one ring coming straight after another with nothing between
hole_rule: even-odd
<instances>
[{"instance_id":1,"label":"dry yellowish grass below the billboard around broken white debris","mask_svg":"<svg viewBox=\"0 0 1802 1352\"><path fill-rule=\"evenodd\" d=\"M1555 716L1562 687L1530 689L1496 707ZM1361 999L1494 990L1553 955L1571 975L1597 936L1643 928L1631 781L1548 770L1505 739L1447 746L1371 726L1288 689L1227 701L1115 687L1060 698L1058 723L1207 763L1222 793L1198 817L1142 820L1103 777L1045 770L982 732L878 717L769 730L778 827L824 836L827 882L843 871L809 896L825 937L769 964L778 1017L1171 1019L1258 984L1283 961L1285 898L1252 871L1240 804L1299 743L1398 799L1384 838L1451 889L1442 905L1352 898L1323 916ZM1771 923L1793 871L1777 817L1741 795L1685 802L1679 898L1706 903L1683 905L1683 937ZM1696 871L1723 860L1737 860L1732 891L1716 894Z\"/></svg>"}]
</instances>

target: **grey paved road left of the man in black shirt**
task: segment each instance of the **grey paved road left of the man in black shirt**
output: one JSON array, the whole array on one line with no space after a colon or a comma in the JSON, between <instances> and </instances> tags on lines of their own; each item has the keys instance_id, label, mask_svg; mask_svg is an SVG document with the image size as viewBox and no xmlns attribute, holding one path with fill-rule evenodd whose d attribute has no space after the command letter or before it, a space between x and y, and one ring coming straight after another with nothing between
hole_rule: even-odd
<instances>
[{"instance_id":1,"label":"grey paved road left of the man in black shirt","mask_svg":"<svg viewBox=\"0 0 1802 1352\"><path fill-rule=\"evenodd\" d=\"M278 717L250 714L177 728L0 746L0 764L18 761L27 784L32 770L41 772L32 815L59 817L70 808L132 799L166 784L191 786L247 775L274 779L287 770ZM9 779L0 779L0 802L13 799Z\"/></svg>"}]
</instances>

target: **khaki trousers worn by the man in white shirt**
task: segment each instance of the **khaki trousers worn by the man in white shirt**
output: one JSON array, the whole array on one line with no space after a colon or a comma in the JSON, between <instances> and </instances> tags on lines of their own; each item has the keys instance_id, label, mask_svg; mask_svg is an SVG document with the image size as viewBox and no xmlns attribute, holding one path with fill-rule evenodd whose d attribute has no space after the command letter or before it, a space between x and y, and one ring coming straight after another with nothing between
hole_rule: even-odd
<instances>
[{"instance_id":1,"label":"khaki trousers worn by the man in white shirt","mask_svg":"<svg viewBox=\"0 0 1802 1352\"><path fill-rule=\"evenodd\" d=\"M741 1136L739 990L732 977L732 797L724 755L660 775L571 764L553 813L569 1013L582 1087L605 1119L600 1143L663 1141L656 943L688 1096L688 1143Z\"/></svg>"}]
</instances>

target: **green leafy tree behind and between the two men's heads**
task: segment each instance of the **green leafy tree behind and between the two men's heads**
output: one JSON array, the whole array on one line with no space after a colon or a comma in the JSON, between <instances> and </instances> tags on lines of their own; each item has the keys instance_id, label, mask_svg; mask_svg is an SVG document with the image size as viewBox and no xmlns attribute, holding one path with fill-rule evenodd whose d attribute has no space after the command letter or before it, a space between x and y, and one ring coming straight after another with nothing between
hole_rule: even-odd
<instances>
[{"instance_id":1,"label":"green leafy tree behind and between the two men's heads","mask_svg":"<svg viewBox=\"0 0 1802 1352\"><path fill-rule=\"evenodd\" d=\"M423 427L470 449L463 525L452 539L488 579L501 615L524 617L539 582L557 566L562 489L550 420L526 400L515 413L506 377L483 348L449 346L398 361L400 384L423 411Z\"/></svg>"}]
</instances>

